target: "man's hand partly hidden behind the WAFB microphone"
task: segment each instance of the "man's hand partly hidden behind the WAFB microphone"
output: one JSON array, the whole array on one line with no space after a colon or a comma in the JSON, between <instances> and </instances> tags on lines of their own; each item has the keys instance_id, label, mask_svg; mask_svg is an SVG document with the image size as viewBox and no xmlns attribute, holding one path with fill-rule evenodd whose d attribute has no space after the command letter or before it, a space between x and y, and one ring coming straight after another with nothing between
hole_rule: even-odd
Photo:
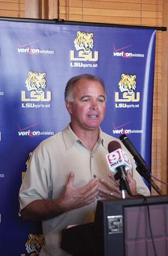
<instances>
[{"instance_id":1,"label":"man's hand partly hidden behind the WAFB microphone","mask_svg":"<svg viewBox=\"0 0 168 256\"><path fill-rule=\"evenodd\" d=\"M106 180L101 179L100 183L102 183L107 189L103 189L99 187L99 196L111 199L112 198L121 198L121 192L119 189L119 180L115 180L114 173L109 173L108 176L111 179L111 182L109 183ZM137 195L137 189L136 189L136 181L132 178L130 175L130 171L127 171L127 178L129 183L130 192L133 194L133 196ZM128 194L126 193L127 197Z\"/></svg>"}]
</instances>

